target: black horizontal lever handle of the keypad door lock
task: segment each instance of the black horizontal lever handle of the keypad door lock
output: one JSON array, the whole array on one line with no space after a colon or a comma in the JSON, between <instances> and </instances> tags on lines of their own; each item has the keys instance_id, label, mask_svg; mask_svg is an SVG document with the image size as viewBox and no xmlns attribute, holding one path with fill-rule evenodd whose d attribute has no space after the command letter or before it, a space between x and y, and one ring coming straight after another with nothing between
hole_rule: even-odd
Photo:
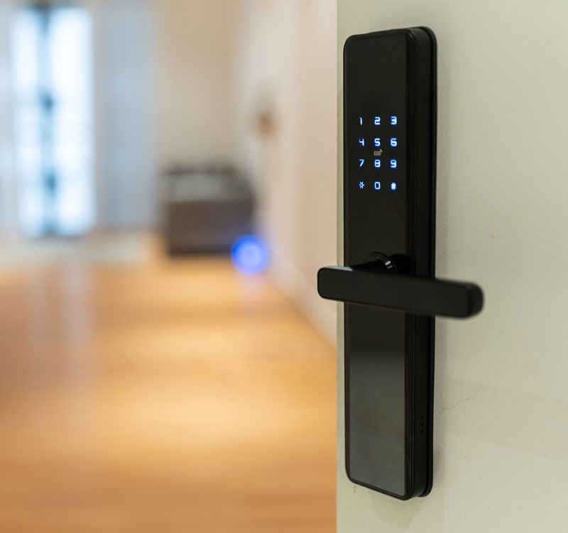
<instances>
[{"instance_id":1,"label":"black horizontal lever handle of the keypad door lock","mask_svg":"<svg viewBox=\"0 0 568 533\"><path fill-rule=\"evenodd\" d=\"M471 317L484 304L483 292L474 283L378 273L356 266L320 268L317 292L327 300L454 318Z\"/></svg>"}]
</instances>

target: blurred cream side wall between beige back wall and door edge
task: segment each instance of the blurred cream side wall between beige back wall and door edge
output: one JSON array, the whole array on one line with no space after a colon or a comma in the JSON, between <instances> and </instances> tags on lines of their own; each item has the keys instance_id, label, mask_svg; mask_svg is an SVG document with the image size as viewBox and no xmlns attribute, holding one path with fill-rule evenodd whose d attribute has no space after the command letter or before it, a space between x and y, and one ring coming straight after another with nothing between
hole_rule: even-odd
<instances>
[{"instance_id":1,"label":"blurred cream side wall between beige back wall and door edge","mask_svg":"<svg viewBox=\"0 0 568 533\"><path fill-rule=\"evenodd\" d=\"M336 255L333 0L244 0L235 42L236 159L253 177L271 273L335 336L335 307L317 296L317 268ZM272 127L258 127L258 116ZM268 131L266 131L268 130Z\"/></svg>"}]
</instances>

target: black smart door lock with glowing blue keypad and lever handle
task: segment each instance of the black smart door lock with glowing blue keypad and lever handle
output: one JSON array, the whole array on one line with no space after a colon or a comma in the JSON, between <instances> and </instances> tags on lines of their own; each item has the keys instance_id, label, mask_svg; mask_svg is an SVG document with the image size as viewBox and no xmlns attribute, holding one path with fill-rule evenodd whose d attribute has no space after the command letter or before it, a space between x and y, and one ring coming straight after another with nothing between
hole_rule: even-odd
<instances>
[{"instance_id":1,"label":"black smart door lock with glowing blue keypad and lever handle","mask_svg":"<svg viewBox=\"0 0 568 533\"><path fill-rule=\"evenodd\" d=\"M344 263L318 292L344 307L346 469L395 498L432 488L434 318L483 295L437 280L436 41L428 28L344 46Z\"/></svg>"}]
</instances>

